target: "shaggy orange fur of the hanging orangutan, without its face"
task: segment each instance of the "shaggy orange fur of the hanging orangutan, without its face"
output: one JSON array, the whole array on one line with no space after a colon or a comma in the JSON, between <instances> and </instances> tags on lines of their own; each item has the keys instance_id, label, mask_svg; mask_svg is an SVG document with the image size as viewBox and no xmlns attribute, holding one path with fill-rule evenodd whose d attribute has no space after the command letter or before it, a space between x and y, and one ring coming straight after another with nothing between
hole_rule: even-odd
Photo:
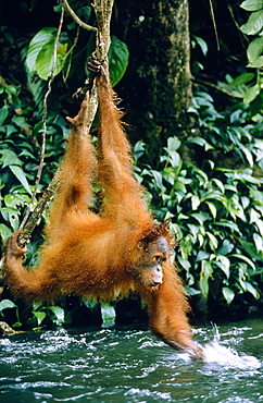
<instances>
[{"instance_id":1,"label":"shaggy orange fur of the hanging orangutan, without its face","mask_svg":"<svg viewBox=\"0 0 263 403\"><path fill-rule=\"evenodd\" d=\"M104 190L100 212L89 209L97 161L86 130L87 95L78 115L70 120L63 181L50 211L38 267L27 271L22 266L25 251L17 246L15 233L5 245L5 281L15 295L29 301L53 301L63 294L111 301L136 292L148 304L152 331L170 345L198 354L186 317L189 306L184 288L170 261L174 241L166 224L153 222L143 188L134 178L129 144L105 69L103 65L97 78L98 181ZM162 280L158 264L150 261L155 258L148 251L152 242L153 253L167 254ZM154 286L148 286L152 281Z\"/></svg>"}]
</instances>

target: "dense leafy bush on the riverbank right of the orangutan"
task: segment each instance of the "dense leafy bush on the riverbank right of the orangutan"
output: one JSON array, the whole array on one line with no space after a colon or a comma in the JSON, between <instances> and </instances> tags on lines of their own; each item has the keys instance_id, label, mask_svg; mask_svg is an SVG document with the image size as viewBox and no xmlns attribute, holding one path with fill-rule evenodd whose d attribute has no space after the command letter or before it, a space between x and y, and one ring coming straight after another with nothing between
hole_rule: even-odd
<instances>
[{"instance_id":1,"label":"dense leafy bush on the riverbank right of the orangutan","mask_svg":"<svg viewBox=\"0 0 263 403\"><path fill-rule=\"evenodd\" d=\"M176 260L188 292L201 292L213 306L241 304L261 296L263 272L263 142L253 137L256 127L242 126L243 110L224 117L212 98L198 93L195 99L199 129L203 137L181 144L167 139L156 169L136 169L151 193L159 219L172 220L179 240ZM184 160L185 147L195 147L195 161ZM137 143L135 156L140 164L147 146ZM239 168L228 168L228 155ZM252 298L249 298L250 295Z\"/></svg>"}]
</instances>

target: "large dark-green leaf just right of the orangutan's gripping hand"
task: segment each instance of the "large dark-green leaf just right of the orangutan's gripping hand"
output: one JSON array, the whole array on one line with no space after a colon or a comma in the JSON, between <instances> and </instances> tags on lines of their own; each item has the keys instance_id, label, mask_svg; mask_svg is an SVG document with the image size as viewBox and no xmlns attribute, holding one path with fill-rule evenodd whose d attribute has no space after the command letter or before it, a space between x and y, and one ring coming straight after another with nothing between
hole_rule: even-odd
<instances>
[{"instance_id":1,"label":"large dark-green leaf just right of the orangutan's gripping hand","mask_svg":"<svg viewBox=\"0 0 263 403\"><path fill-rule=\"evenodd\" d=\"M111 83L114 87L123 77L128 65L128 48L127 46L115 36L111 38L111 46L109 49L109 69Z\"/></svg>"}]
</instances>

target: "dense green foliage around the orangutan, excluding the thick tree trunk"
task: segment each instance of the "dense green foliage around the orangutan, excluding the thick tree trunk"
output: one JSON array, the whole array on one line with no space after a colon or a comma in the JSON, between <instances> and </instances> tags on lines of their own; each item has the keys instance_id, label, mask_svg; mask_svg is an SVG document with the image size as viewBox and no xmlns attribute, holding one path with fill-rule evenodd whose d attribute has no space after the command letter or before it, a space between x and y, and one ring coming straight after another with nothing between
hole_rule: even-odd
<instances>
[{"instance_id":1,"label":"dense green foliage around the orangutan, excluding the thick tree trunk","mask_svg":"<svg viewBox=\"0 0 263 403\"><path fill-rule=\"evenodd\" d=\"M92 22L91 9L86 2L76 0L72 2L73 8L75 4L78 4L78 15ZM34 13L29 2L22 5L24 15ZM213 77L208 80L210 38L198 16L191 23L192 73L198 82L193 106L189 109L196 122L191 137L183 141L171 134L164 139L158 158L152 157L146 139L136 143L134 148L135 172L149 191L149 203L158 219L171 220L179 241L176 260L188 292L202 295L212 314L255 306L262 302L263 291L263 0L246 0L241 8L247 11L239 16L239 25L240 35L243 33L249 38L248 61L243 52L236 74L225 39L221 46L226 68L221 65L218 76L213 72ZM30 32L10 23L1 28L1 245L18 228L33 191L59 17L57 5L52 27L41 25ZM58 44L54 71L58 77L49 97L46 167L39 194L49 184L63 155L68 133L64 117L76 111L72 94L85 81L86 60L92 49L93 36L80 32L66 17ZM113 37L110 50L113 84L121 80L127 64L126 45ZM28 265L36 261L43 222L45 217L28 245ZM17 326L25 321L30 326L64 320L73 323L77 315L78 301L75 300L63 305L64 316L61 307L35 304L28 313L27 308L14 306L9 295L3 297L0 314L15 312L10 320ZM90 307L88 302L85 304Z\"/></svg>"}]
</instances>

